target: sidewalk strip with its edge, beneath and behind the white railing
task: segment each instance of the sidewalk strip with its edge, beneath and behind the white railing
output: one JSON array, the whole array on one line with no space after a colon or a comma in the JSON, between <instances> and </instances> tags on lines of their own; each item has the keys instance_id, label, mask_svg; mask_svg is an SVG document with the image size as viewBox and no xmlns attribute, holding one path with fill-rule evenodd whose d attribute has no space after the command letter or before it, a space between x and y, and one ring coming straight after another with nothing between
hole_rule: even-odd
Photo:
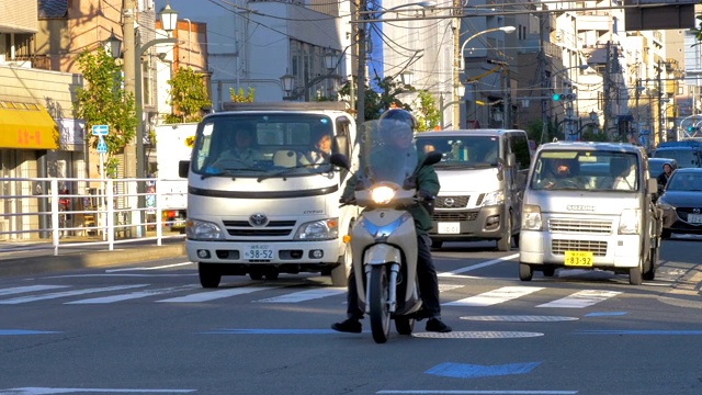
<instances>
[{"instance_id":1,"label":"sidewalk strip with its edge, beneath and behind the white railing","mask_svg":"<svg viewBox=\"0 0 702 395\"><path fill-rule=\"evenodd\" d=\"M54 256L50 240L0 241L0 249L4 250L0 252L0 276L121 266L156 259L186 259L184 238L166 238L161 246L157 246L156 240L129 239L129 242L115 245L112 251L107 245L71 247L72 244L94 241L102 239L67 237L60 240L57 256Z\"/></svg>"}]
</instances>

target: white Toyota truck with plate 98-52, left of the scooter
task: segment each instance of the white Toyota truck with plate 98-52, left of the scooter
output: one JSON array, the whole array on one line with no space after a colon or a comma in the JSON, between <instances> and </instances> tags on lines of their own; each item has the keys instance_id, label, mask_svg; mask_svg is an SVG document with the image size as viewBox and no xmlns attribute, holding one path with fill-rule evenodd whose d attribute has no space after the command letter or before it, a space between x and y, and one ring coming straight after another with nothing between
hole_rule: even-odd
<instances>
[{"instance_id":1,"label":"white Toyota truck with plate 98-52, left of the scooter","mask_svg":"<svg viewBox=\"0 0 702 395\"><path fill-rule=\"evenodd\" d=\"M238 146L247 133L248 147ZM351 171L328 157L304 160L321 134L331 153L352 158ZM188 178L185 250L201 285L217 287L222 275L318 272L346 286L351 248L343 237L359 208L340 207L339 198L358 169L355 138L341 102L225 103L206 115L191 160L179 166ZM245 155L233 156L235 148Z\"/></svg>"}]
</instances>

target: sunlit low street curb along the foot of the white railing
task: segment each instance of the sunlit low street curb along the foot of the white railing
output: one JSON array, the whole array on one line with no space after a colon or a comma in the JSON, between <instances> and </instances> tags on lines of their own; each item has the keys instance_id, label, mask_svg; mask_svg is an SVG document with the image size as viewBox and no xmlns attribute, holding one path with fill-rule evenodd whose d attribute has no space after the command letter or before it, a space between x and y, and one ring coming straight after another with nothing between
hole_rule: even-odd
<instances>
[{"instance_id":1,"label":"sunlit low street curb along the foot of the white railing","mask_svg":"<svg viewBox=\"0 0 702 395\"><path fill-rule=\"evenodd\" d=\"M69 252L59 256L35 256L0 260L0 275L39 274L53 271L79 270L143 261L186 258L184 244L159 247L139 246L112 251Z\"/></svg>"}]
</instances>

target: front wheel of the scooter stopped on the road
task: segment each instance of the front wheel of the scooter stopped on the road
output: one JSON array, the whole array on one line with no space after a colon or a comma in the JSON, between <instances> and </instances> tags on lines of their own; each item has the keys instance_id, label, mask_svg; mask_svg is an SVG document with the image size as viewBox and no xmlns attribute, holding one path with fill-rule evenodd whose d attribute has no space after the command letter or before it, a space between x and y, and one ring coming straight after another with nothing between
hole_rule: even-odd
<instances>
[{"instance_id":1,"label":"front wheel of the scooter stopped on the road","mask_svg":"<svg viewBox=\"0 0 702 395\"><path fill-rule=\"evenodd\" d=\"M390 335L390 312L387 305L389 282L387 279L387 268L385 266L374 266L371 269L367 303L371 307L370 316L373 340L377 343L384 343Z\"/></svg>"}]
</instances>

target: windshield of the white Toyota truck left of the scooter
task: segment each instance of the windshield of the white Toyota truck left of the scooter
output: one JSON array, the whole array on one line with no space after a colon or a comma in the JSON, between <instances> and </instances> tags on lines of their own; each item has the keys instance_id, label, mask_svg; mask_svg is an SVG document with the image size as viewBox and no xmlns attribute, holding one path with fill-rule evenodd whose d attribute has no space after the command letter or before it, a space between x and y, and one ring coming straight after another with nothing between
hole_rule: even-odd
<instances>
[{"instance_id":1,"label":"windshield of the white Toyota truck left of the scooter","mask_svg":"<svg viewBox=\"0 0 702 395\"><path fill-rule=\"evenodd\" d=\"M331 170L333 124L315 114L217 114L201 122L192 171L205 177L295 177Z\"/></svg>"}]
</instances>

